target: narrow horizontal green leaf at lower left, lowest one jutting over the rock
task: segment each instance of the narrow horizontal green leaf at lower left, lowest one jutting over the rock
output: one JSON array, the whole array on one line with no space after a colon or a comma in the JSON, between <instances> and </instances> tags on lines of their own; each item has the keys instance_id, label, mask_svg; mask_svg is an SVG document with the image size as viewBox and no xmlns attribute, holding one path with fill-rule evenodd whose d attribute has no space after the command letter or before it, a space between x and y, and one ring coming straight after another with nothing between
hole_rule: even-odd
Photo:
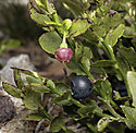
<instances>
[{"instance_id":1,"label":"narrow horizontal green leaf at lower left, lowest one jutting over the rock","mask_svg":"<svg viewBox=\"0 0 136 133\"><path fill-rule=\"evenodd\" d=\"M24 118L24 120L30 120L30 121L40 121L42 119L45 119L45 117L41 116L40 113L32 113L27 116L26 118Z\"/></svg>"}]
</instances>

